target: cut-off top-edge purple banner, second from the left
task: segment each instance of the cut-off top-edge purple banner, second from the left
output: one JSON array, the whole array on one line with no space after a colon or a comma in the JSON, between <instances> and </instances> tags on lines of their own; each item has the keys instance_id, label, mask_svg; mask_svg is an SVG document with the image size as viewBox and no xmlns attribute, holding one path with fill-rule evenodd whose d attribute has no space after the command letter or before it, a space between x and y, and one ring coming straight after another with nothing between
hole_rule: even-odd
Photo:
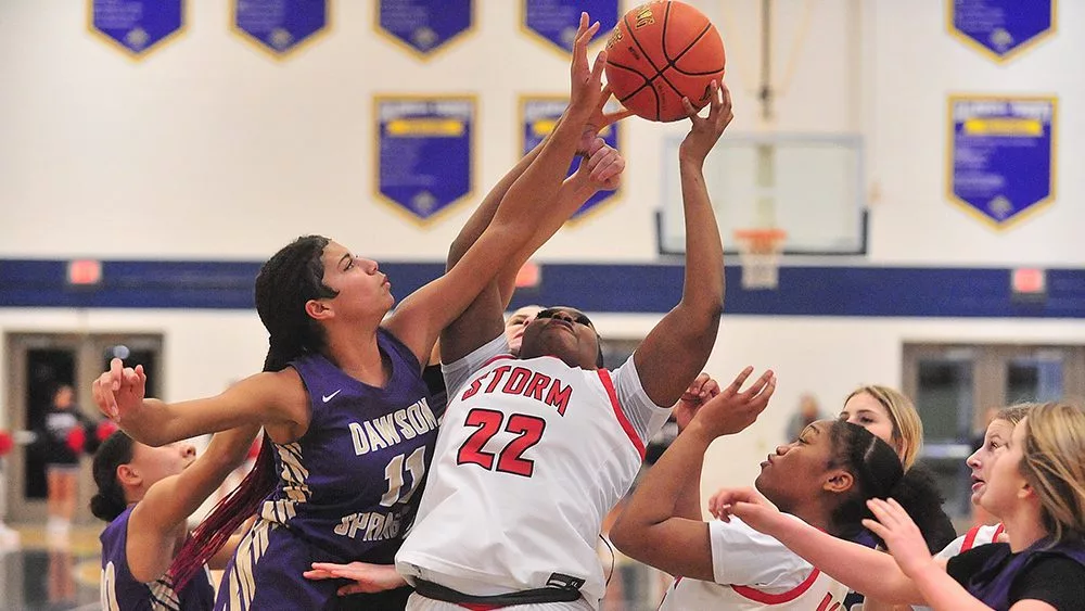
<instances>
[{"instance_id":1,"label":"cut-off top-edge purple banner, second from the left","mask_svg":"<svg viewBox=\"0 0 1085 611\"><path fill-rule=\"evenodd\" d=\"M231 0L230 24L277 59L328 31L328 0Z\"/></svg>"}]
</instances>

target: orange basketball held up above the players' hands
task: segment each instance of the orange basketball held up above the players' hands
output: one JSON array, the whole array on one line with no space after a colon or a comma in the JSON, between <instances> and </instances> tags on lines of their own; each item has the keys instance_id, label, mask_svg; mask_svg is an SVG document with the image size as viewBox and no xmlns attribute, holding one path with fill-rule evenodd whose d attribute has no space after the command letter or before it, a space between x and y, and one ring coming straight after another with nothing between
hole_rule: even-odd
<instances>
[{"instance_id":1,"label":"orange basketball held up above the players' hands","mask_svg":"<svg viewBox=\"0 0 1085 611\"><path fill-rule=\"evenodd\" d=\"M682 2L637 7L607 41L607 82L625 107L649 120L685 118L682 98L704 107L709 84L723 79L725 62L716 27Z\"/></svg>"}]
</instances>

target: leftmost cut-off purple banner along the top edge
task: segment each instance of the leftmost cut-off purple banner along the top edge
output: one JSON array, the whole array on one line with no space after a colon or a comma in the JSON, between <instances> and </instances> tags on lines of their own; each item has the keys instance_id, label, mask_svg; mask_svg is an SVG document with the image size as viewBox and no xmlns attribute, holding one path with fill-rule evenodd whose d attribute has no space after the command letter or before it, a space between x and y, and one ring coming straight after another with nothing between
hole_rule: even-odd
<instances>
[{"instance_id":1,"label":"leftmost cut-off purple banner along the top edge","mask_svg":"<svg viewBox=\"0 0 1085 611\"><path fill-rule=\"evenodd\" d=\"M184 27L183 0L90 0L88 26L141 60Z\"/></svg>"}]
</instances>

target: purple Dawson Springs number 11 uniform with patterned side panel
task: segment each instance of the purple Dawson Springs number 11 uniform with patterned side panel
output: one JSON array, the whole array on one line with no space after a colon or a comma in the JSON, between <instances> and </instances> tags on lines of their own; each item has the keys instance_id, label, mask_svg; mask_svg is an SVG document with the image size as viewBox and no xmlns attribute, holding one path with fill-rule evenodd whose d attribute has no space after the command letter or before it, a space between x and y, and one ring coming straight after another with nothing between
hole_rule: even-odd
<instances>
[{"instance_id":1,"label":"purple Dawson Springs number 11 uniform with patterned side panel","mask_svg":"<svg viewBox=\"0 0 1085 611\"><path fill-rule=\"evenodd\" d=\"M437 418L413 353L383 329L378 344L392 368L383 389L320 355L291 362L309 395L309 428L275 445L278 487L227 568L217 608L333 608L343 583L305 580L310 563L393 563L418 509Z\"/></svg>"}]
</instances>

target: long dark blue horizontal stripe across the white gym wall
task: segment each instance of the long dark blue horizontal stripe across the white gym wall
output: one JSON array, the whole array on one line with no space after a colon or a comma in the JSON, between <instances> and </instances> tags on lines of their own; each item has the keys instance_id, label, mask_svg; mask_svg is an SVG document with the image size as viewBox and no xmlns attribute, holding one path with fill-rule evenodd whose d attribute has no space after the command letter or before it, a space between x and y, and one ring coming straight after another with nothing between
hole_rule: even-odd
<instances>
[{"instance_id":1,"label":"long dark blue horizontal stripe across the white gym wall","mask_svg":"<svg viewBox=\"0 0 1085 611\"><path fill-rule=\"evenodd\" d=\"M69 287L64 260L0 260L0 307L250 309L253 262L106 260L102 282ZM382 264L403 298L444 266ZM745 291L727 268L735 315L1085 318L1085 269L1049 269L1047 294L1016 300L1006 268L784 267L776 291ZM544 265L541 283L513 306L570 304L587 311L665 313L681 296L678 265Z\"/></svg>"}]
</instances>

